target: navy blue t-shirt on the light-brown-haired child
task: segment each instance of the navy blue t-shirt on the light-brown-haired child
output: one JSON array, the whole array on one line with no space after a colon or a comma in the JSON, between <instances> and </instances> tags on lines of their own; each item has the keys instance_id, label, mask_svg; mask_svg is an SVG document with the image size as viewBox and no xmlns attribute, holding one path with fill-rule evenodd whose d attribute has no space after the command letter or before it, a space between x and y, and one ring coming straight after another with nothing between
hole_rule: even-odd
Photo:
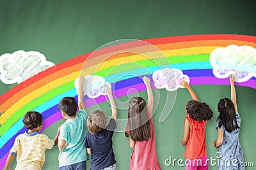
<instances>
[{"instance_id":1,"label":"navy blue t-shirt on the light-brown-haired child","mask_svg":"<svg viewBox=\"0 0 256 170\"><path fill-rule=\"evenodd\" d=\"M104 169L116 163L112 148L112 136L116 121L111 118L106 129L99 134L86 133L85 147L91 148L91 169Z\"/></svg>"}]
</instances>

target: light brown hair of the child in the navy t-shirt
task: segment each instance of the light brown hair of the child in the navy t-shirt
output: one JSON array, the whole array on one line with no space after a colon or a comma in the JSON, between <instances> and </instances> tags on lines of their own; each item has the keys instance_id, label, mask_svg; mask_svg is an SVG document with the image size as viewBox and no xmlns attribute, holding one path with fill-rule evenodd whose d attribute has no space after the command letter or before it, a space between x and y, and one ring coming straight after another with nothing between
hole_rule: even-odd
<instances>
[{"instance_id":1,"label":"light brown hair of the child in the navy t-shirt","mask_svg":"<svg viewBox=\"0 0 256 170\"><path fill-rule=\"evenodd\" d=\"M107 115L101 110L94 111L91 115L89 115L86 122L88 130L92 134L98 134L101 132L106 126L106 123Z\"/></svg>"}]
</instances>

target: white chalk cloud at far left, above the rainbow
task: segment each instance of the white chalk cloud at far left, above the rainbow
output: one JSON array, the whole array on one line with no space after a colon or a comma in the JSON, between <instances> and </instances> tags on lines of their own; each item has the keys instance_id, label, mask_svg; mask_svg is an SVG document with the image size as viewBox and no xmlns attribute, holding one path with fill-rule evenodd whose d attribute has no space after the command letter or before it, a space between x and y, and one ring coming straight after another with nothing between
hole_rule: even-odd
<instances>
[{"instance_id":1,"label":"white chalk cloud at far left, above the rainbow","mask_svg":"<svg viewBox=\"0 0 256 170\"><path fill-rule=\"evenodd\" d=\"M40 52L4 53L0 56L0 80L5 84L21 83L54 65Z\"/></svg>"}]
</instances>

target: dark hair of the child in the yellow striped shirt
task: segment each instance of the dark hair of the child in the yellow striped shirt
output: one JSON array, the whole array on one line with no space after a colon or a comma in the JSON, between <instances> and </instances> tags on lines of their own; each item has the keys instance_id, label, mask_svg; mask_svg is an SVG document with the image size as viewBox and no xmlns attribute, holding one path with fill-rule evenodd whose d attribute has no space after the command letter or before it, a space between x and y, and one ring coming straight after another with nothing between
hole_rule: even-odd
<instances>
[{"instance_id":1,"label":"dark hair of the child in the yellow striped shirt","mask_svg":"<svg viewBox=\"0 0 256 170\"><path fill-rule=\"evenodd\" d=\"M26 129L35 129L38 125L42 125L43 117L37 111L28 111L22 121Z\"/></svg>"}]
</instances>

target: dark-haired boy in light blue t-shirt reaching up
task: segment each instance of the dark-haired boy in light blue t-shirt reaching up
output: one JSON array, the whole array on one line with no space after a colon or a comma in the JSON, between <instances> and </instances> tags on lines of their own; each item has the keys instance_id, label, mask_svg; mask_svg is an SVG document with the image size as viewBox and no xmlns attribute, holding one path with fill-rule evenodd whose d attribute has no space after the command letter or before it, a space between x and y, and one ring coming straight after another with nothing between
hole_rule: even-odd
<instances>
[{"instance_id":1,"label":"dark-haired boy in light blue t-shirt reaching up","mask_svg":"<svg viewBox=\"0 0 256 170\"><path fill-rule=\"evenodd\" d=\"M79 94L78 107L73 97L64 97L61 99L58 107L63 118L67 119L60 126L59 136L59 169L60 170L81 170L86 169L86 153L85 135L86 134L86 119L87 115L84 110L84 78L79 78ZM76 114L77 112L77 114Z\"/></svg>"}]
</instances>

